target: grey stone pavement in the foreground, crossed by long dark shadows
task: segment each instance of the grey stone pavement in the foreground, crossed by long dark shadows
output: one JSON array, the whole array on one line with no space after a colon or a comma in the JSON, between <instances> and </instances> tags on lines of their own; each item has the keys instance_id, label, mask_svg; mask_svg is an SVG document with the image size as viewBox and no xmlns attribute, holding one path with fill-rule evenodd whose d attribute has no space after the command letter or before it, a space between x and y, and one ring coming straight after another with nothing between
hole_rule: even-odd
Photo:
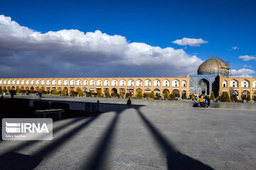
<instances>
[{"instance_id":1,"label":"grey stone pavement in the foreground, crossed by long dark shadows","mask_svg":"<svg viewBox=\"0 0 256 170\"><path fill-rule=\"evenodd\" d=\"M112 109L55 121L53 141L0 141L0 169L256 169L255 111Z\"/></svg>"}]
</instances>

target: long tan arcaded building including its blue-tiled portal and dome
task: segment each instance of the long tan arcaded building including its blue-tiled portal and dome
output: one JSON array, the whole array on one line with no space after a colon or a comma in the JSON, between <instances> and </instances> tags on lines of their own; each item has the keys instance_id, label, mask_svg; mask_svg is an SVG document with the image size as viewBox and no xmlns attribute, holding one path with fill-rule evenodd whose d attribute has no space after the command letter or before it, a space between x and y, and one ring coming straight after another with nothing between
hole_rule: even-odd
<instances>
[{"instance_id":1,"label":"long tan arcaded building including its blue-tiled portal and dome","mask_svg":"<svg viewBox=\"0 0 256 170\"><path fill-rule=\"evenodd\" d=\"M230 98L238 99L242 96L256 98L256 78L230 77L230 67L223 60L216 57L203 62L198 67L197 75L187 77L79 77L79 78L0 78L0 89L10 91L11 88L36 93L39 89L45 93L53 90L73 93L82 91L97 94L100 89L106 94L131 94L137 91L142 94L154 91L156 96L164 96L166 91L176 97L190 94L210 95L215 97L229 93Z\"/></svg>"}]
</instances>

